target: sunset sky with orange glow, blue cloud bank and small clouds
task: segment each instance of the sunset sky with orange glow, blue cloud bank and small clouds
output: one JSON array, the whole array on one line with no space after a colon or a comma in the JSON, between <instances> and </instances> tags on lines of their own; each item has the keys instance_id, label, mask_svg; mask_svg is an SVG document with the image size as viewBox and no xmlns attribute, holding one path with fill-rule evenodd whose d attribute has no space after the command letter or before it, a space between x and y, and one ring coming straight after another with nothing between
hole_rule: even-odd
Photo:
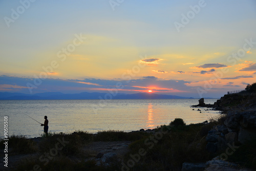
<instances>
[{"instance_id":1,"label":"sunset sky with orange glow, blue cloud bank and small clouds","mask_svg":"<svg viewBox=\"0 0 256 171\"><path fill-rule=\"evenodd\" d=\"M256 82L253 0L0 0L0 92L220 98Z\"/></svg>"}]
</instances>

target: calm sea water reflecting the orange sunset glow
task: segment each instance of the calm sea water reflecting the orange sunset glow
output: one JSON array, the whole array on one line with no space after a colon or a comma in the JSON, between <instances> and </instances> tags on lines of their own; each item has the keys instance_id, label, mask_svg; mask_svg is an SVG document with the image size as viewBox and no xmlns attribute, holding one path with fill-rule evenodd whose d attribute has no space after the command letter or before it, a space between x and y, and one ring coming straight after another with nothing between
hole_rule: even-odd
<instances>
[{"instance_id":1,"label":"calm sea water reflecting the orange sunset glow","mask_svg":"<svg viewBox=\"0 0 256 171\"><path fill-rule=\"evenodd\" d=\"M205 99L214 103L217 99ZM198 99L154 100L0 100L0 137L4 135L4 116L8 116L9 135L38 137L43 127L26 115L44 123L48 116L49 131L72 133L77 130L96 133L103 130L136 131L154 129L182 118L187 124L199 123L219 115L218 111L202 113L190 105ZM25 115L26 114L26 115Z\"/></svg>"}]
</instances>

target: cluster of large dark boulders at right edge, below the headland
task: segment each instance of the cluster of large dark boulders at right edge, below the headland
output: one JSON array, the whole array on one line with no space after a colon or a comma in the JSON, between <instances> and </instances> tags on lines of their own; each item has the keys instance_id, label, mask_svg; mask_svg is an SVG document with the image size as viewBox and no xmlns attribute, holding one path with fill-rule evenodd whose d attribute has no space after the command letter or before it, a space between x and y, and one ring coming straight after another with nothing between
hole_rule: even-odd
<instances>
[{"instance_id":1,"label":"cluster of large dark boulders at right edge, below the headland","mask_svg":"<svg viewBox=\"0 0 256 171\"><path fill-rule=\"evenodd\" d=\"M229 112L224 124L214 126L206 136L206 149L215 153L228 144L256 139L256 111Z\"/></svg>"}]
</instances>

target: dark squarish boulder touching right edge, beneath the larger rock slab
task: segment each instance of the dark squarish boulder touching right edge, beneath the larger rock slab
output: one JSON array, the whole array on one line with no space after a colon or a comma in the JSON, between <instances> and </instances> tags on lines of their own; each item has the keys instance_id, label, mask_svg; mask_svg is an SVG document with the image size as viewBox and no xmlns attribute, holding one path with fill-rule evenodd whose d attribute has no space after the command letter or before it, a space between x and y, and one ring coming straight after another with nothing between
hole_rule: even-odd
<instances>
[{"instance_id":1,"label":"dark squarish boulder touching right edge, beneath the larger rock slab","mask_svg":"<svg viewBox=\"0 0 256 171\"><path fill-rule=\"evenodd\" d=\"M240 127L240 131L238 133L238 141L241 143L245 143L248 140L252 140L256 138L256 129L245 129Z\"/></svg>"}]
</instances>

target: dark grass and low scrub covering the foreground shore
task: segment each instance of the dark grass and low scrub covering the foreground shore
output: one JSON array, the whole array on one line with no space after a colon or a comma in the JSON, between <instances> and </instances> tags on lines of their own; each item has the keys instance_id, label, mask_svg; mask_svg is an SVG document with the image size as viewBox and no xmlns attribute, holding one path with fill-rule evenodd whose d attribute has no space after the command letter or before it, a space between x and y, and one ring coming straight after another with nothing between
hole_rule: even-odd
<instances>
[{"instance_id":1,"label":"dark grass and low scrub covering the foreground shore","mask_svg":"<svg viewBox=\"0 0 256 171\"><path fill-rule=\"evenodd\" d=\"M42 136L37 148L34 148L34 141L23 136L12 136L9 142L14 145L13 148L15 148L16 153L36 152L38 154L38 157L21 162L16 170L31 170L36 164L42 170L121 170L123 165L120 161L115 161L109 166L97 166L95 161L89 160L89 157L83 154L83 146L96 141L132 141L129 146L130 152L123 159L126 166L131 166L129 167L130 170L181 170L184 162L206 162L217 156L206 151L205 136L212 129L212 126L223 124L224 119L225 115L222 115L218 118L210 118L210 122L207 124L186 125L183 120L176 118L176 121L169 125L158 126L154 134L146 132L125 133L113 130L101 131L98 134L83 131L76 131L72 134L51 133L49 136ZM176 122L179 124L175 124ZM44 165L45 161L42 160L44 158L41 156L56 148L58 139L64 139L68 142L57 151L49 163ZM2 144L1 141L3 148ZM143 155L140 154L141 149L144 150ZM136 155L137 158L134 158ZM240 146L234 155L229 156L228 160L231 162L240 161L242 166L255 169L255 156L256 143L253 141ZM134 160L137 161L133 163Z\"/></svg>"}]
</instances>

